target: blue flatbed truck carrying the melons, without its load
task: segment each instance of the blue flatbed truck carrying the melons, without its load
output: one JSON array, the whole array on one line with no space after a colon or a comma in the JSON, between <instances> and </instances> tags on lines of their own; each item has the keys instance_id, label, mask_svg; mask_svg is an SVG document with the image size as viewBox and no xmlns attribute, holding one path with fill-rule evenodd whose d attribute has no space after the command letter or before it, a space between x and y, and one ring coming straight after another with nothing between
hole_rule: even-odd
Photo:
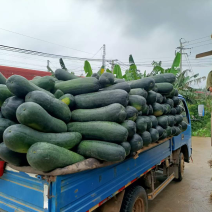
<instances>
[{"instance_id":1,"label":"blue flatbed truck carrying the melons, without its load","mask_svg":"<svg viewBox=\"0 0 212 212\"><path fill-rule=\"evenodd\" d=\"M0 178L0 211L147 212L173 179L181 181L189 162L191 119L185 99L186 131L144 148L123 162L61 176L28 174L6 167ZM158 183L158 176L163 176Z\"/></svg>"}]
</instances>

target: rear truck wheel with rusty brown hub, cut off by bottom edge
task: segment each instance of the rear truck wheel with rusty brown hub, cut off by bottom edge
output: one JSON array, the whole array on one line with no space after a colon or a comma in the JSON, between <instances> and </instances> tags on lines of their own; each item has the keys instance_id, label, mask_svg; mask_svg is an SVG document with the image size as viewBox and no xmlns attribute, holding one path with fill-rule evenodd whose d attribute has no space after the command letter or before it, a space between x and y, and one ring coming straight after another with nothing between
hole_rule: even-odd
<instances>
[{"instance_id":1,"label":"rear truck wheel with rusty brown hub, cut off by bottom edge","mask_svg":"<svg viewBox=\"0 0 212 212\"><path fill-rule=\"evenodd\" d=\"M125 191L120 212L147 212L148 200L146 191L141 186L131 187Z\"/></svg>"}]
</instances>

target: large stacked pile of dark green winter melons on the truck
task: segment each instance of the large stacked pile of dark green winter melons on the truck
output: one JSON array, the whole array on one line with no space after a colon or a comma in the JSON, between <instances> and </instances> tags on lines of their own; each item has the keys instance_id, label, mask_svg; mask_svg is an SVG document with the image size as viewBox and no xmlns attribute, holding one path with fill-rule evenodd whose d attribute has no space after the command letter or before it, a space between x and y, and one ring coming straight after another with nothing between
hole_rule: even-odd
<instances>
[{"instance_id":1,"label":"large stacked pile of dark green winter melons on the truck","mask_svg":"<svg viewBox=\"0 0 212 212\"><path fill-rule=\"evenodd\" d=\"M33 80L0 75L0 159L49 172L96 158L123 161L187 129L173 74L126 82L63 69Z\"/></svg>"}]
</instances>

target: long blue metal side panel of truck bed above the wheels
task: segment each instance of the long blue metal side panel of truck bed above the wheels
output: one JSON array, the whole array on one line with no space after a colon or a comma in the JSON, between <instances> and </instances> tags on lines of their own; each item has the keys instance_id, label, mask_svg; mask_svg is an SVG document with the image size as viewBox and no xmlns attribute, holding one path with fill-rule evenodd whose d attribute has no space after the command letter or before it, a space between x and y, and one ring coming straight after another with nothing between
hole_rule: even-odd
<instances>
[{"instance_id":1,"label":"long blue metal side panel of truck bed above the wheels","mask_svg":"<svg viewBox=\"0 0 212 212\"><path fill-rule=\"evenodd\" d=\"M142 152L138 158L77 174L59 176L53 183L53 211L85 212L139 178L148 169L171 155L171 140ZM55 184L55 185L54 185Z\"/></svg>"}]
</instances>

